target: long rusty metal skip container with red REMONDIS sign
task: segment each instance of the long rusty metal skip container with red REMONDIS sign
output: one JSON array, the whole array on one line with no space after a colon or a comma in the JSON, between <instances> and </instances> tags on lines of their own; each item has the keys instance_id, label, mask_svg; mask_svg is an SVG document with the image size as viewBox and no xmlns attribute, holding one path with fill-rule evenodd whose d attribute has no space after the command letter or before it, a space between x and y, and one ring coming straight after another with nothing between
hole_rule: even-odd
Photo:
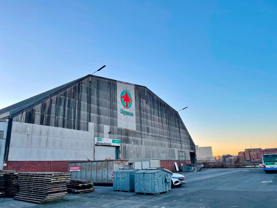
<instances>
[{"instance_id":1,"label":"long rusty metal skip container with red REMONDIS sign","mask_svg":"<svg viewBox=\"0 0 277 208\"><path fill-rule=\"evenodd\" d=\"M68 172L72 172L71 179L85 179L96 184L113 184L113 172L127 166L128 160L70 162Z\"/></svg>"}]
</instances>

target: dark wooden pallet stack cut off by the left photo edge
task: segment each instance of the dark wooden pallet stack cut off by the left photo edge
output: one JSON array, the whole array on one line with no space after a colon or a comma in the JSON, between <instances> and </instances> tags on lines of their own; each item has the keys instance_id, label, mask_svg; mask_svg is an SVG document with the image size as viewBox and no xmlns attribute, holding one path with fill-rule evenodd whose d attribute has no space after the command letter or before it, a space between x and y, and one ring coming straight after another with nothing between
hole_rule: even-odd
<instances>
[{"instance_id":1,"label":"dark wooden pallet stack cut off by the left photo edge","mask_svg":"<svg viewBox=\"0 0 277 208\"><path fill-rule=\"evenodd\" d=\"M6 177L6 195L15 196L19 192L18 172L14 170L1 170L0 174Z\"/></svg>"}]
</instances>

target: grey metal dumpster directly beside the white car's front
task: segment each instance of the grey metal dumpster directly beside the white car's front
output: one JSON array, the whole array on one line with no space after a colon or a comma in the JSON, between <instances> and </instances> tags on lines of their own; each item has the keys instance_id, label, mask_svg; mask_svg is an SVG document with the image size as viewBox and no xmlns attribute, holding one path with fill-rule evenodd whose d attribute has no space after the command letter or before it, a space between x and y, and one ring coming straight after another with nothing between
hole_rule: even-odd
<instances>
[{"instance_id":1,"label":"grey metal dumpster directly beside the white car's front","mask_svg":"<svg viewBox=\"0 0 277 208\"><path fill-rule=\"evenodd\" d=\"M134 173L134 176L136 193L157 195L171 190L171 171L139 170Z\"/></svg>"}]
</instances>

